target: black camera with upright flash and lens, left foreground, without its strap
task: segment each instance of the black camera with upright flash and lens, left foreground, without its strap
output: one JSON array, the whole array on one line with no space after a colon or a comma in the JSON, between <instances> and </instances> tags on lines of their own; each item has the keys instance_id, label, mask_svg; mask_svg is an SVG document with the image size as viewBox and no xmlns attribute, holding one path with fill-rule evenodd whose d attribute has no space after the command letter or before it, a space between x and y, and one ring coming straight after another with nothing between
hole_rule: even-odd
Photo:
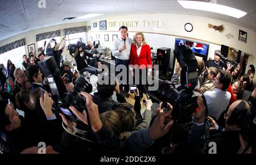
<instances>
[{"instance_id":1,"label":"black camera with upright flash and lens, left foreground, without its strap","mask_svg":"<svg viewBox=\"0 0 256 165\"><path fill-rule=\"evenodd\" d=\"M73 91L64 93L65 86L61 80L60 71L53 56L49 56L43 61L40 61L39 67L48 79L52 99L55 101L55 108L63 112L68 119L72 121L77 120L73 112L69 111L69 106L72 105L80 112L84 111L84 109L86 110L85 98L81 96L81 92L92 92L92 84L89 83L88 78L77 78Z\"/></svg>"}]
</instances>

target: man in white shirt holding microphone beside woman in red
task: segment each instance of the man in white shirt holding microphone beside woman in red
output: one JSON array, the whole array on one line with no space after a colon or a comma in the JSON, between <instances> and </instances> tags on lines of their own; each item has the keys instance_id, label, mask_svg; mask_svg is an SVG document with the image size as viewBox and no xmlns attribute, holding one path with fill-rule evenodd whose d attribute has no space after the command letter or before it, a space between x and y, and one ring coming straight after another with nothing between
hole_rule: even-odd
<instances>
[{"instance_id":1,"label":"man in white shirt holding microphone beside woman in red","mask_svg":"<svg viewBox=\"0 0 256 165\"><path fill-rule=\"evenodd\" d=\"M127 37L128 28L125 26L121 26L119 28L120 37L118 37L113 42L112 54L115 57L115 68L118 65L125 65L126 66L126 78L122 78L123 81L120 82L120 91L123 91L123 86L125 87L125 96L129 97L129 58L130 58L130 50L131 44L133 43L133 39ZM115 71L115 75L120 73L121 71ZM126 80L126 81L124 81ZM123 85L122 85L123 84Z\"/></svg>"}]
</instances>

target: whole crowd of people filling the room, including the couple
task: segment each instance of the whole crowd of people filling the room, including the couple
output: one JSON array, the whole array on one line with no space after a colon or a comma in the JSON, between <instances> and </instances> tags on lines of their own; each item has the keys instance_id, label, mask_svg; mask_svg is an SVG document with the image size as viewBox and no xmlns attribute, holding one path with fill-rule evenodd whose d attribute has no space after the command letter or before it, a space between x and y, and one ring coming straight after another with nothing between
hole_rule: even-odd
<instances>
[{"instance_id":1,"label":"whole crowd of people filling the room, including the couple","mask_svg":"<svg viewBox=\"0 0 256 165\"><path fill-rule=\"evenodd\" d=\"M120 27L120 36L113 41L115 67L124 65L127 77L135 77L136 72L140 78L143 73L152 75L150 46L143 33L135 33L131 39L127 31L127 27ZM52 47L52 43L55 46ZM206 63L198 61L198 84L194 91L200 95L195 100L196 111L180 123L172 117L174 103L168 102L167 107L162 107L164 103L160 100L154 109L150 99L142 99L146 92L142 78L131 94L127 82L117 81L115 76L119 70L115 75L100 74L100 61L96 67L88 65L88 57L95 58L98 54L91 43L72 54L78 70L75 72L71 61L61 62L64 48L65 37L60 43L53 39L38 49L38 58L35 52L30 52L28 57L24 54L22 68L15 68L10 60L7 69L0 65L1 153L38 153L42 142L47 146L46 153L210 153L212 142L217 146L214 153L255 153L253 65L244 74L240 64L221 64L217 54ZM86 100L85 109L68 107L79 120L71 120L52 99L54 93L38 65L48 56L53 56L59 67L64 87L58 87L61 93L72 92L76 80L85 71L97 75L98 79L108 79L106 84L97 83L97 92L93 95L80 93ZM176 87L180 86L180 70L177 63L170 79ZM111 79L115 79L114 84L110 83ZM112 99L113 95L117 100ZM127 98L134 99L134 105L127 103Z\"/></svg>"}]
</instances>

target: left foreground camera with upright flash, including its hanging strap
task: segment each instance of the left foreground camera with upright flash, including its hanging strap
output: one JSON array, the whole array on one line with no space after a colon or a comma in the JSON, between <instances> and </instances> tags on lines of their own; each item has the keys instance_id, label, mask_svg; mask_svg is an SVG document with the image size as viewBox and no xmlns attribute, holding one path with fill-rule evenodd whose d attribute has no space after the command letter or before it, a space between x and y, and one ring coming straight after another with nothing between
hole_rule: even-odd
<instances>
[{"instance_id":1,"label":"left foreground camera with upright flash, including its hanging strap","mask_svg":"<svg viewBox=\"0 0 256 165\"><path fill-rule=\"evenodd\" d=\"M57 67L53 56L49 56L43 61L40 61L39 67L49 81L49 87L51 88L53 94L52 99L55 101L53 107L57 111L63 113L69 121L76 122L77 126L74 129L79 131L82 135L82 137L78 137L90 142L96 141L94 134L90 131L92 129L90 126L89 114L86 109L86 99L81 95L81 92L92 92L92 84L90 84L88 81L89 79L86 77L77 78L73 91L70 93L64 93L65 86L62 82L59 68ZM79 118L71 111L71 109L69 109L70 106L75 107L79 112L85 110L88 125L85 125L82 121L79 120Z\"/></svg>"}]
</instances>

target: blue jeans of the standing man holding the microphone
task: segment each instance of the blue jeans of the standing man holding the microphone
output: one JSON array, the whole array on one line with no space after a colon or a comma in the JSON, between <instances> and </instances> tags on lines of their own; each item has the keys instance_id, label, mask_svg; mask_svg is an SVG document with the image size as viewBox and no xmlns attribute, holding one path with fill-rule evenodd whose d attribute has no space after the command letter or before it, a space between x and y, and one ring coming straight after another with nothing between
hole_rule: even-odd
<instances>
[{"instance_id":1,"label":"blue jeans of the standing man holding the microphone","mask_svg":"<svg viewBox=\"0 0 256 165\"><path fill-rule=\"evenodd\" d=\"M128 84L128 77L129 77L129 64L130 64L130 60L119 60L118 58L115 58L115 68L118 65L125 65L126 66L126 70L127 70L127 82L119 82L119 88L120 91L123 91L123 87L125 87L125 92L128 93L129 92L129 84ZM115 76L120 73L121 71L115 71Z\"/></svg>"}]
</instances>

